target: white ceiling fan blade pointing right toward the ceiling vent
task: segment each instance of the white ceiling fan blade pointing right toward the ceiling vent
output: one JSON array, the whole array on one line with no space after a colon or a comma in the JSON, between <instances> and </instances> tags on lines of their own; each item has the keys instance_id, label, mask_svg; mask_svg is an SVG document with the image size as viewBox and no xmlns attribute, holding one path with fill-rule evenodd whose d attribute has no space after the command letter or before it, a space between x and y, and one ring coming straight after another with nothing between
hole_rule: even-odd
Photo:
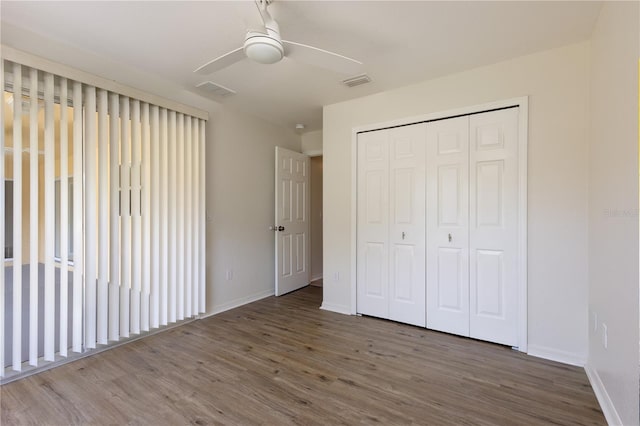
<instances>
[{"instance_id":1,"label":"white ceiling fan blade pointing right toward the ceiling vent","mask_svg":"<svg viewBox=\"0 0 640 426\"><path fill-rule=\"evenodd\" d=\"M314 65L340 74L353 75L362 71L362 62L318 47L282 40L285 56L305 64Z\"/></svg>"}]
</instances>

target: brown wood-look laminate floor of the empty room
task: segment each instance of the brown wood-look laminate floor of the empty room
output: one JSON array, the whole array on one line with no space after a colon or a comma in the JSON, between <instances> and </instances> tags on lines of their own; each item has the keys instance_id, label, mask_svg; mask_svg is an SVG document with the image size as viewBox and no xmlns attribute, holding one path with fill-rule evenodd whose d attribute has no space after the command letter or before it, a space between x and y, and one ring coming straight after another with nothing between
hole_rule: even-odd
<instances>
[{"instance_id":1,"label":"brown wood-look laminate floor of the empty room","mask_svg":"<svg viewBox=\"0 0 640 426\"><path fill-rule=\"evenodd\" d=\"M0 388L13 424L603 425L584 370L318 309L307 287Z\"/></svg>"}]
</instances>

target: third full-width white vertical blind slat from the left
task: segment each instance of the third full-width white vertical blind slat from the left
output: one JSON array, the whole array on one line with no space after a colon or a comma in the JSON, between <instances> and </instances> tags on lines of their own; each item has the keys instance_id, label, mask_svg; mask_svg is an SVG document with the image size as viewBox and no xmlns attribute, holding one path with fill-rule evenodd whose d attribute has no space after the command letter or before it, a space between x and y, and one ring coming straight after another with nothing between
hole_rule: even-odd
<instances>
[{"instance_id":1,"label":"third full-width white vertical blind slat from the left","mask_svg":"<svg viewBox=\"0 0 640 426\"><path fill-rule=\"evenodd\" d=\"M55 129L53 75L44 75L44 360L55 358Z\"/></svg>"}]
</instances>

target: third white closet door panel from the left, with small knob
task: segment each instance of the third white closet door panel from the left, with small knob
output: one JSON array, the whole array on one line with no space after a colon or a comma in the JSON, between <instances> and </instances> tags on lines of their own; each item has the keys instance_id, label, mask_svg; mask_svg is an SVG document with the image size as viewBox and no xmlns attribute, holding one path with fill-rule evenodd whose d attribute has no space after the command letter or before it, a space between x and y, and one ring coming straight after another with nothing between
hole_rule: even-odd
<instances>
[{"instance_id":1,"label":"third white closet door panel from the left, with small knob","mask_svg":"<svg viewBox=\"0 0 640 426\"><path fill-rule=\"evenodd\" d=\"M427 125L427 327L469 336L469 117Z\"/></svg>"}]
</instances>

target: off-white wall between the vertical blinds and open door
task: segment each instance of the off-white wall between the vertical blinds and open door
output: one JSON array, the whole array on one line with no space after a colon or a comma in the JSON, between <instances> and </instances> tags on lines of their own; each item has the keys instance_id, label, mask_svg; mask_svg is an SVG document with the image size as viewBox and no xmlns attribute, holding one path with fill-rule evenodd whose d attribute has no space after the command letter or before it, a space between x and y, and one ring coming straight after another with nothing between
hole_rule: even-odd
<instances>
[{"instance_id":1,"label":"off-white wall between the vertical blinds and open door","mask_svg":"<svg viewBox=\"0 0 640 426\"><path fill-rule=\"evenodd\" d=\"M300 136L221 108L207 127L207 312L273 294L275 147ZM232 277L227 279L227 271Z\"/></svg>"}]
</instances>

